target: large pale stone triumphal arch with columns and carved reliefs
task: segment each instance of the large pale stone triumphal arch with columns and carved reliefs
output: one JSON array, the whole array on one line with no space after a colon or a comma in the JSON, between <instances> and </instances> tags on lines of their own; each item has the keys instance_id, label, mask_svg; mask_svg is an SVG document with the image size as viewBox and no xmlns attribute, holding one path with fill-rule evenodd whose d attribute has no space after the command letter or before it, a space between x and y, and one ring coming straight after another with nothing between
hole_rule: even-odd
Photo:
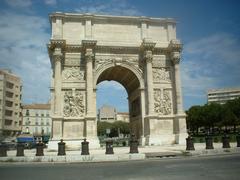
<instances>
[{"instance_id":1,"label":"large pale stone triumphal arch with columns and carved reliefs","mask_svg":"<svg viewBox=\"0 0 240 180\"><path fill-rule=\"evenodd\" d=\"M121 83L128 93L131 131L142 145L184 143L180 53L170 18L53 13L48 44L52 141L99 147L96 87Z\"/></svg>"}]
</instances>

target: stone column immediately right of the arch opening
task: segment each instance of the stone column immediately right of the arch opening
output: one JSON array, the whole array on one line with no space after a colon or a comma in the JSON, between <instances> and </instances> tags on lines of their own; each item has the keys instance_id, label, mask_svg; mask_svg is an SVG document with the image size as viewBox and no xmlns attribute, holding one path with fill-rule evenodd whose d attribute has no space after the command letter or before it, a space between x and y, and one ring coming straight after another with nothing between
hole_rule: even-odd
<instances>
[{"instance_id":1,"label":"stone column immediately right of the arch opening","mask_svg":"<svg viewBox=\"0 0 240 180\"><path fill-rule=\"evenodd\" d=\"M154 114L153 99L153 74L152 74L152 51L145 51L146 74L147 74L147 99L148 99L148 115Z\"/></svg>"}]
</instances>

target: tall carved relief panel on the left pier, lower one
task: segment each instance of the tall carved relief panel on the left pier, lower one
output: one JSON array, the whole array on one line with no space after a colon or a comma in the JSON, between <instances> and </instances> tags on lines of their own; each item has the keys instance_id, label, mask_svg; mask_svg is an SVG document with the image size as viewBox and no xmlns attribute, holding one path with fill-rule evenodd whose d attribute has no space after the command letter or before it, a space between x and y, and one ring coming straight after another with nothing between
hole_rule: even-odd
<instances>
[{"instance_id":1,"label":"tall carved relief panel on the left pier, lower one","mask_svg":"<svg viewBox=\"0 0 240 180\"><path fill-rule=\"evenodd\" d=\"M82 117L84 114L84 93L79 90L65 91L63 106L64 117Z\"/></svg>"}]
</instances>

